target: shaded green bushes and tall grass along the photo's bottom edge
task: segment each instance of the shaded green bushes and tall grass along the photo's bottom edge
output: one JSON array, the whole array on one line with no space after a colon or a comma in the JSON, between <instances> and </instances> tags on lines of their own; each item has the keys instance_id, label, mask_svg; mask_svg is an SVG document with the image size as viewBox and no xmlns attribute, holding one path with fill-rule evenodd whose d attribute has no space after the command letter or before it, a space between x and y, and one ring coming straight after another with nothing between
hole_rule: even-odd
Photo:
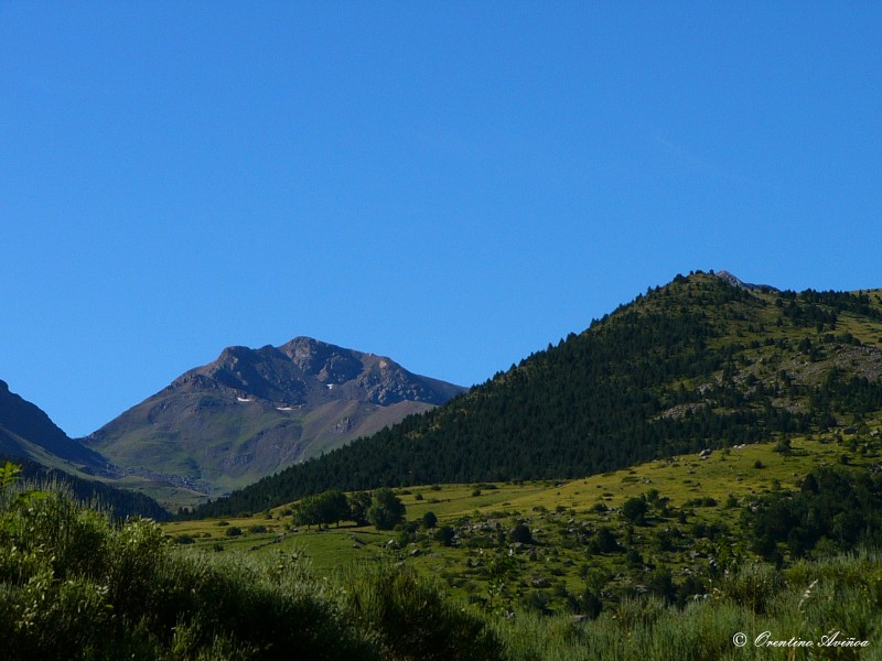
<instances>
[{"instance_id":1,"label":"shaded green bushes and tall grass along the photo's bottom edge","mask_svg":"<svg viewBox=\"0 0 882 661\"><path fill-rule=\"evenodd\" d=\"M0 477L8 659L679 661L873 659L882 649L872 552L744 562L679 605L633 595L588 617L541 616L451 598L394 559L318 572L280 549L175 548L150 520L115 525L68 496L11 485L9 470ZM756 647L765 631L813 647ZM746 647L733 644L738 632Z\"/></svg>"}]
</instances>

